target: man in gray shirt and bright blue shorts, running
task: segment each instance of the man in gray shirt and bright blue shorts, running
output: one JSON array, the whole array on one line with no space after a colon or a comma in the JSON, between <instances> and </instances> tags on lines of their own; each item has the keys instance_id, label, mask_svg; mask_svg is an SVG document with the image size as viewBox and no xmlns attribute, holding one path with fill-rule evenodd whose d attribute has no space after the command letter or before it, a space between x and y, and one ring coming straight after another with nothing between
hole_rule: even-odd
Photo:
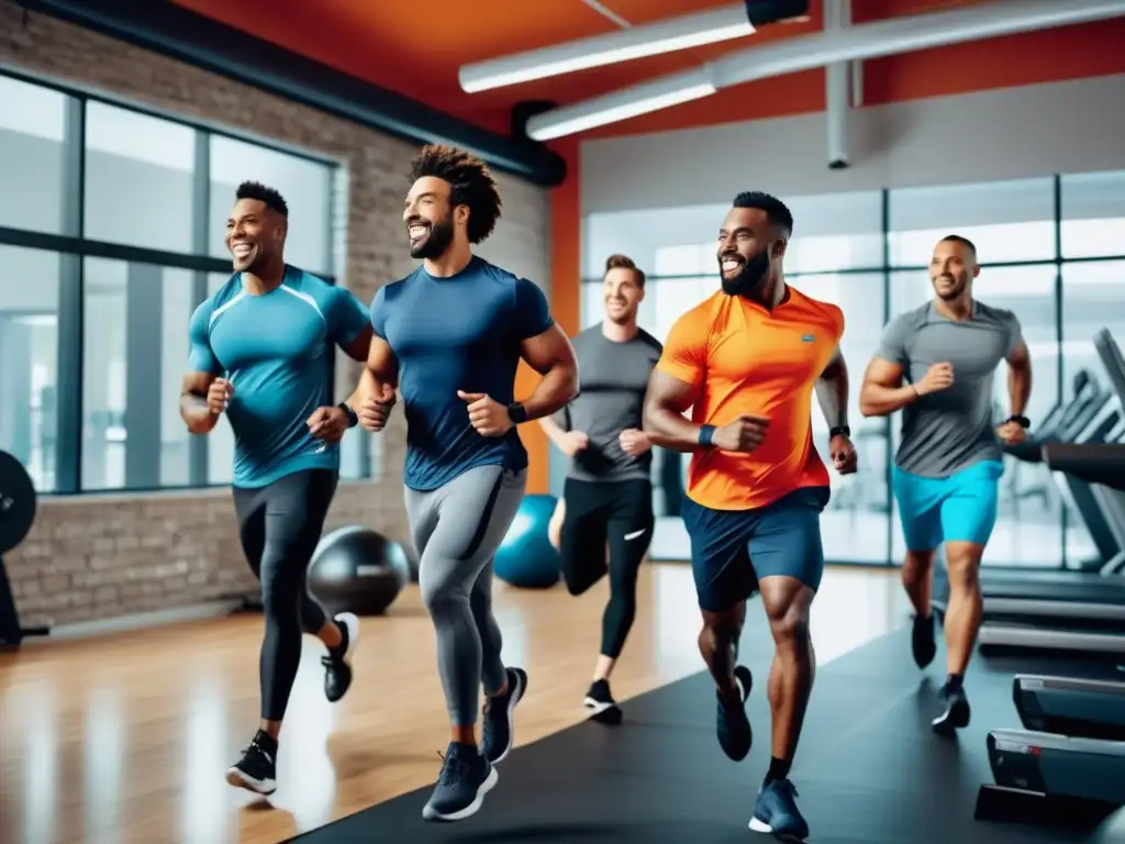
<instances>
[{"instance_id":1,"label":"man in gray shirt and bright blue shorts, running","mask_svg":"<svg viewBox=\"0 0 1125 844\"><path fill-rule=\"evenodd\" d=\"M888 324L864 375L860 410L865 416L902 410L894 499L907 546L902 585L915 608L911 644L919 667L937 652L929 598L934 554L945 544L948 675L934 729L952 735L969 724L963 681L981 620L978 573L996 524L1001 442L1022 442L1030 425L1024 411L1032 360L1015 314L973 298L980 264L970 241L955 234L939 241L929 272L934 299ZM1010 415L996 428L992 383L1001 360L1008 363Z\"/></svg>"}]
</instances>

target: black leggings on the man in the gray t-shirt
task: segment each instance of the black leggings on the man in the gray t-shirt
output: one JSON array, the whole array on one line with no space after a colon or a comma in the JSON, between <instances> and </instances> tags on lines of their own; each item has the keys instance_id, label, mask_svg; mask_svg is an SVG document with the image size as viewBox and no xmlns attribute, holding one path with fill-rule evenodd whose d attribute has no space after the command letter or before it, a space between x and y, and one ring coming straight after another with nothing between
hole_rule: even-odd
<instances>
[{"instance_id":1,"label":"black leggings on the man in the gray t-shirt","mask_svg":"<svg viewBox=\"0 0 1125 844\"><path fill-rule=\"evenodd\" d=\"M637 616L637 573L652 540L652 484L567 478L566 515L559 529L562 578L580 595L606 573L610 602L602 614L602 655L616 658Z\"/></svg>"}]
</instances>

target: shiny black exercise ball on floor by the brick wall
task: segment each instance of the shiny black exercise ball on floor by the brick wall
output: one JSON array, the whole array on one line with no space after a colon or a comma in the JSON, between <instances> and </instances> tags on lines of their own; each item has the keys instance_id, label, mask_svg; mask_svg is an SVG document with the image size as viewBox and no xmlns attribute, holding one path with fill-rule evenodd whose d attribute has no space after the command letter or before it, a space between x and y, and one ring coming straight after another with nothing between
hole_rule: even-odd
<instances>
[{"instance_id":1,"label":"shiny black exercise ball on floor by the brick wall","mask_svg":"<svg viewBox=\"0 0 1125 844\"><path fill-rule=\"evenodd\" d=\"M323 537L308 567L308 591L330 616L379 616L410 582L406 550L359 526Z\"/></svg>"}]
</instances>

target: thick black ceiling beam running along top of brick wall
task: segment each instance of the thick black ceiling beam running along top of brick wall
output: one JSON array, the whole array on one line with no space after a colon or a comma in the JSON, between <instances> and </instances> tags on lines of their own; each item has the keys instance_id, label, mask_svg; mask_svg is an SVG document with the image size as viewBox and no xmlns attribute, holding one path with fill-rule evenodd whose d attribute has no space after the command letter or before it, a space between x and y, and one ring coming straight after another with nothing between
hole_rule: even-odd
<instances>
[{"instance_id":1,"label":"thick black ceiling beam running along top of brick wall","mask_svg":"<svg viewBox=\"0 0 1125 844\"><path fill-rule=\"evenodd\" d=\"M562 158L526 137L488 132L171 0L16 2L411 143L458 146L536 185L554 187L566 178Z\"/></svg>"}]
</instances>

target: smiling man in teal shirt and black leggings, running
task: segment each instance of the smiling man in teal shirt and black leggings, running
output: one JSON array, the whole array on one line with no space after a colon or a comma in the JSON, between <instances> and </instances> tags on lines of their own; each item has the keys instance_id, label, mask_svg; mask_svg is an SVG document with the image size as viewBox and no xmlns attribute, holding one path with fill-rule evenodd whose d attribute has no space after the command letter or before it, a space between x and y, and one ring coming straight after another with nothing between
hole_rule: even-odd
<instances>
[{"instance_id":1,"label":"smiling man in teal shirt and black leggings, running","mask_svg":"<svg viewBox=\"0 0 1125 844\"><path fill-rule=\"evenodd\" d=\"M339 345L366 360L371 329L348 290L286 263L289 209L278 191L245 182L235 198L226 223L234 275L191 315L180 415L192 433L209 433L224 414L234 431L234 508L262 584L266 636L260 729L226 779L269 794L303 630L327 647L328 700L351 685L359 622L327 618L305 575L335 493L340 440L358 423L346 404L332 404L332 356Z\"/></svg>"}]
</instances>

